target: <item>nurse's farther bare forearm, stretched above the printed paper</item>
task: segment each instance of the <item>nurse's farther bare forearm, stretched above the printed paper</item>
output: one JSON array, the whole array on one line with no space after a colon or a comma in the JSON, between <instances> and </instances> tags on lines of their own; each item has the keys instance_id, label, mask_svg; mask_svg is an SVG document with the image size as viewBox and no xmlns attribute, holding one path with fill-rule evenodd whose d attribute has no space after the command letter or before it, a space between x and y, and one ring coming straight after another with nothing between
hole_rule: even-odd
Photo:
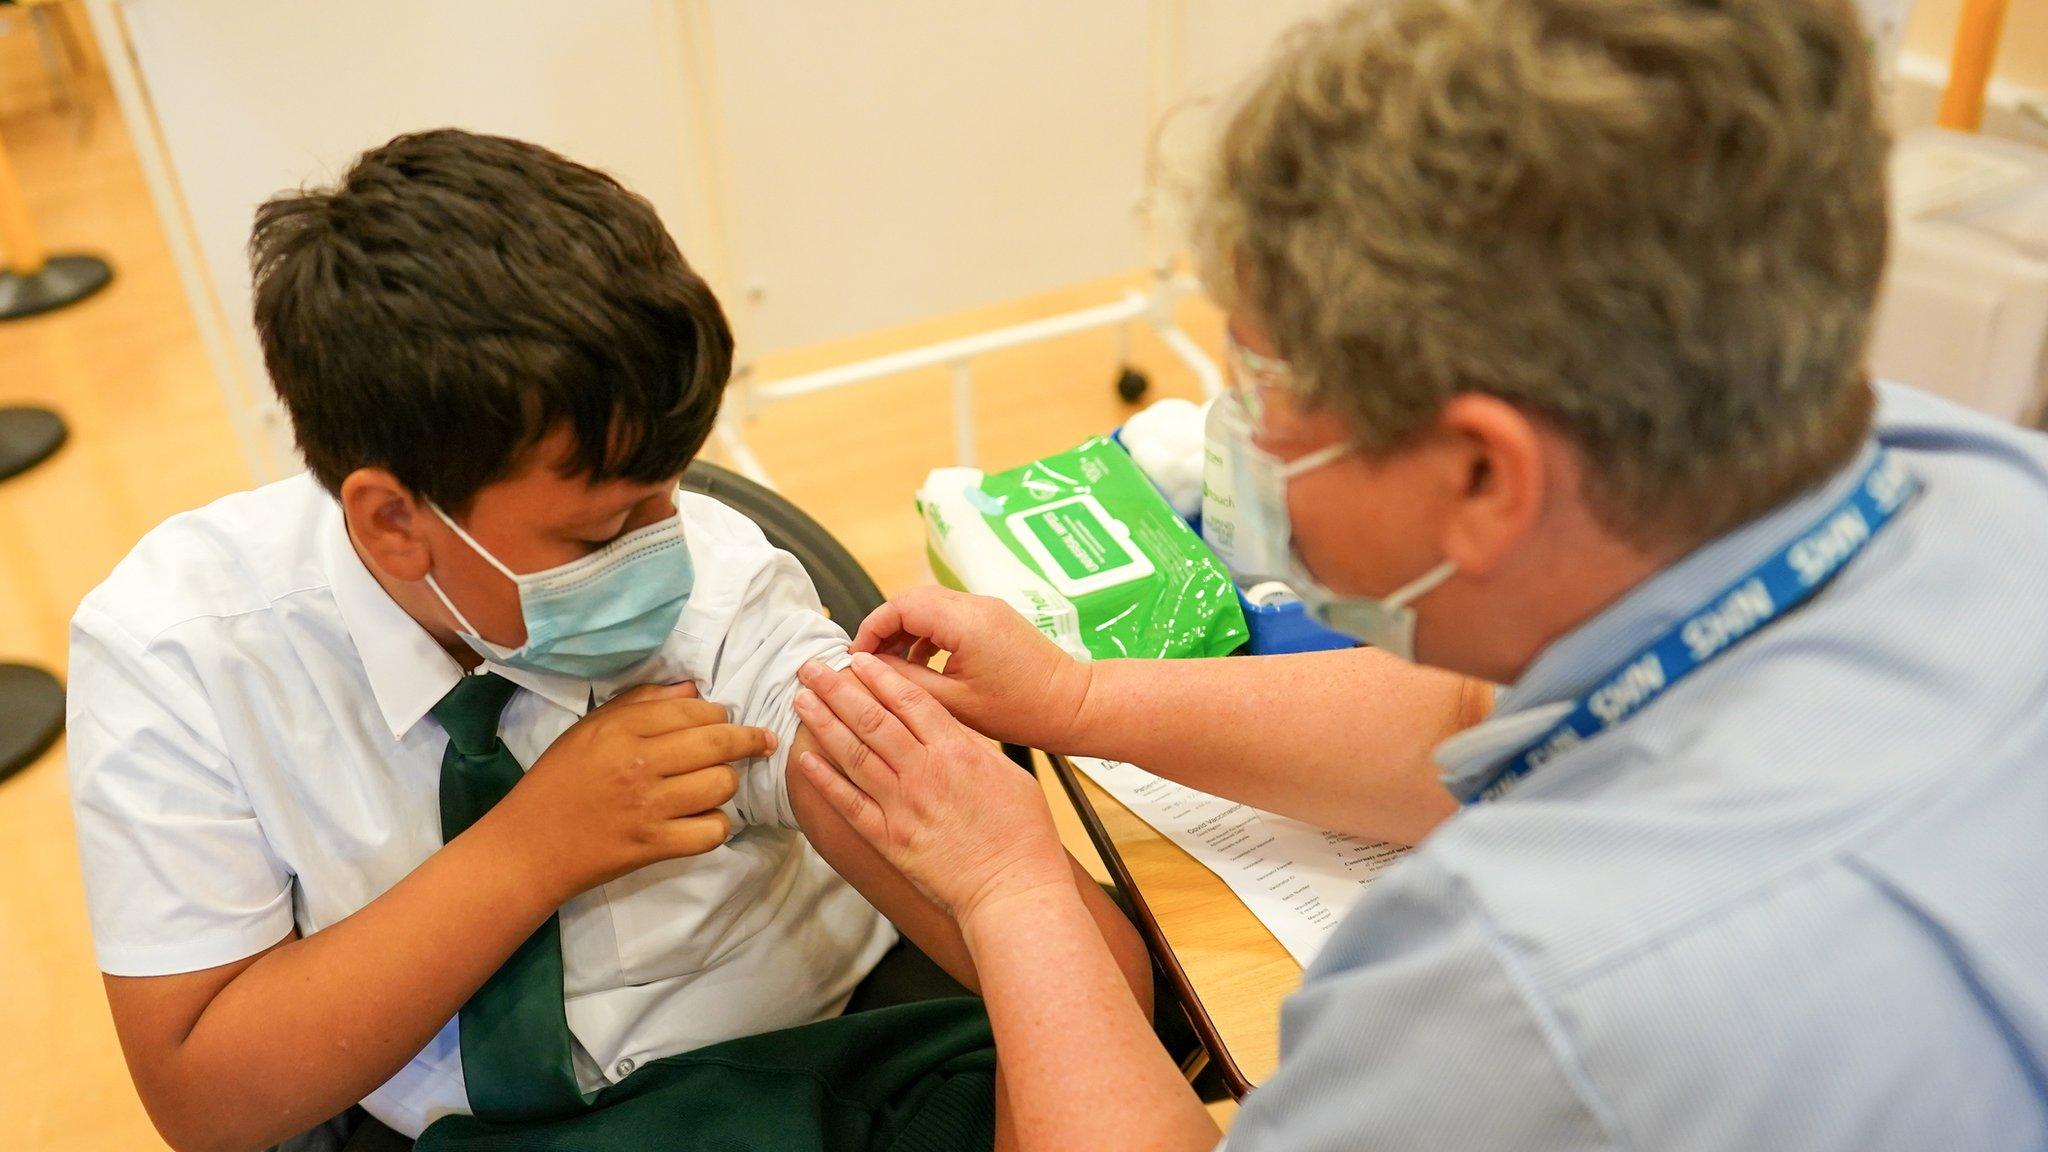
<instances>
[{"instance_id":1,"label":"nurse's farther bare forearm, stretched above the printed paper","mask_svg":"<svg viewBox=\"0 0 2048 1152\"><path fill-rule=\"evenodd\" d=\"M1102 660L1065 750L1413 845L1456 810L1430 750L1491 707L1479 681L1372 650Z\"/></svg>"}]
</instances>

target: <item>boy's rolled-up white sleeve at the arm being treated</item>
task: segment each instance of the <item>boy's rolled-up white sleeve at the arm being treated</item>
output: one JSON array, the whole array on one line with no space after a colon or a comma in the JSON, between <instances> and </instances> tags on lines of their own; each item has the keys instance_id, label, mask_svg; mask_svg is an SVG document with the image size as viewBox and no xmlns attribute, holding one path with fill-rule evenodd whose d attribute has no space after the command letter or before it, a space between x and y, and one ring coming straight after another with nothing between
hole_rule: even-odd
<instances>
[{"instance_id":1,"label":"boy's rolled-up white sleeve at the arm being treated","mask_svg":"<svg viewBox=\"0 0 2048 1152\"><path fill-rule=\"evenodd\" d=\"M760 529L748 525L756 539ZM733 709L733 724L750 724L776 734L772 756L754 760L739 779L731 808L743 824L797 826L788 806L788 748L797 740L797 668L821 660L846 668L846 631L817 601L811 576L791 553L770 547L735 549L752 574L731 607L731 623L711 670L707 697Z\"/></svg>"}]
</instances>

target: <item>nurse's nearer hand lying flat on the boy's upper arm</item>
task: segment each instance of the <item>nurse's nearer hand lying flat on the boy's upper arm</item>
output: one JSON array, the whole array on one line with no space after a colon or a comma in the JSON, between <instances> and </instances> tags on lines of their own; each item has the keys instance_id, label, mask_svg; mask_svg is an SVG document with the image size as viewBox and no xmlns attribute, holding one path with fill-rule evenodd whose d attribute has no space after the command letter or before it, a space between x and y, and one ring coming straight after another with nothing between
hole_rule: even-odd
<instances>
[{"instance_id":1,"label":"nurse's nearer hand lying flat on the boy's upper arm","mask_svg":"<svg viewBox=\"0 0 2048 1152\"><path fill-rule=\"evenodd\" d=\"M805 752L799 771L932 902L965 924L1008 896L1071 894L1038 783L930 693L868 654L799 678L797 715L834 760Z\"/></svg>"}]
</instances>

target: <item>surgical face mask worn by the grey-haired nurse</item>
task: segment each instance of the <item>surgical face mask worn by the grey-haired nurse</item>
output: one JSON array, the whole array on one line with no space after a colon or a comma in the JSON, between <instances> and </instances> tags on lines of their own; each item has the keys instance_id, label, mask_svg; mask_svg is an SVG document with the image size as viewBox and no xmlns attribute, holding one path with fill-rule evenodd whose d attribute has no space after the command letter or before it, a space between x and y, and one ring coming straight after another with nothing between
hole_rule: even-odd
<instances>
[{"instance_id":1,"label":"surgical face mask worn by the grey-haired nurse","mask_svg":"<svg viewBox=\"0 0 2048 1152\"><path fill-rule=\"evenodd\" d=\"M1233 437L1231 451L1237 455L1237 506L1239 521L1255 525L1251 533L1260 545L1257 568L1270 568L1270 576L1284 582L1300 596L1309 615L1331 631L1341 631L1352 640L1391 652L1403 660L1415 658L1415 609L1421 596L1458 572L1456 562L1444 560L1415 580L1395 588L1386 596L1346 596L1329 590L1303 564L1294 547L1294 527L1286 510L1286 486L1296 476L1327 467L1352 453L1352 445L1337 443L1317 449L1298 459L1282 461L1270 451L1251 443L1249 437Z\"/></svg>"}]
</instances>

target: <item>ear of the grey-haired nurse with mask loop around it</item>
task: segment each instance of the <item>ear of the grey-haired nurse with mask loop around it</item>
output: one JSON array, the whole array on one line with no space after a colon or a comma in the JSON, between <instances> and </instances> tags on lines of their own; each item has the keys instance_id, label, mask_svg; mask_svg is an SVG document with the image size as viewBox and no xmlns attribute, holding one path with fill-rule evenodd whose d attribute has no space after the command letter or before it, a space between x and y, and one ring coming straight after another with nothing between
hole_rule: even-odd
<instances>
[{"instance_id":1,"label":"ear of the grey-haired nurse with mask loop around it","mask_svg":"<svg viewBox=\"0 0 2048 1152\"><path fill-rule=\"evenodd\" d=\"M1528 541L1554 496L1546 490L1559 480L1546 430L1505 400L1464 394L1444 404L1436 433L1450 449L1444 558L1462 574L1487 576Z\"/></svg>"}]
</instances>

